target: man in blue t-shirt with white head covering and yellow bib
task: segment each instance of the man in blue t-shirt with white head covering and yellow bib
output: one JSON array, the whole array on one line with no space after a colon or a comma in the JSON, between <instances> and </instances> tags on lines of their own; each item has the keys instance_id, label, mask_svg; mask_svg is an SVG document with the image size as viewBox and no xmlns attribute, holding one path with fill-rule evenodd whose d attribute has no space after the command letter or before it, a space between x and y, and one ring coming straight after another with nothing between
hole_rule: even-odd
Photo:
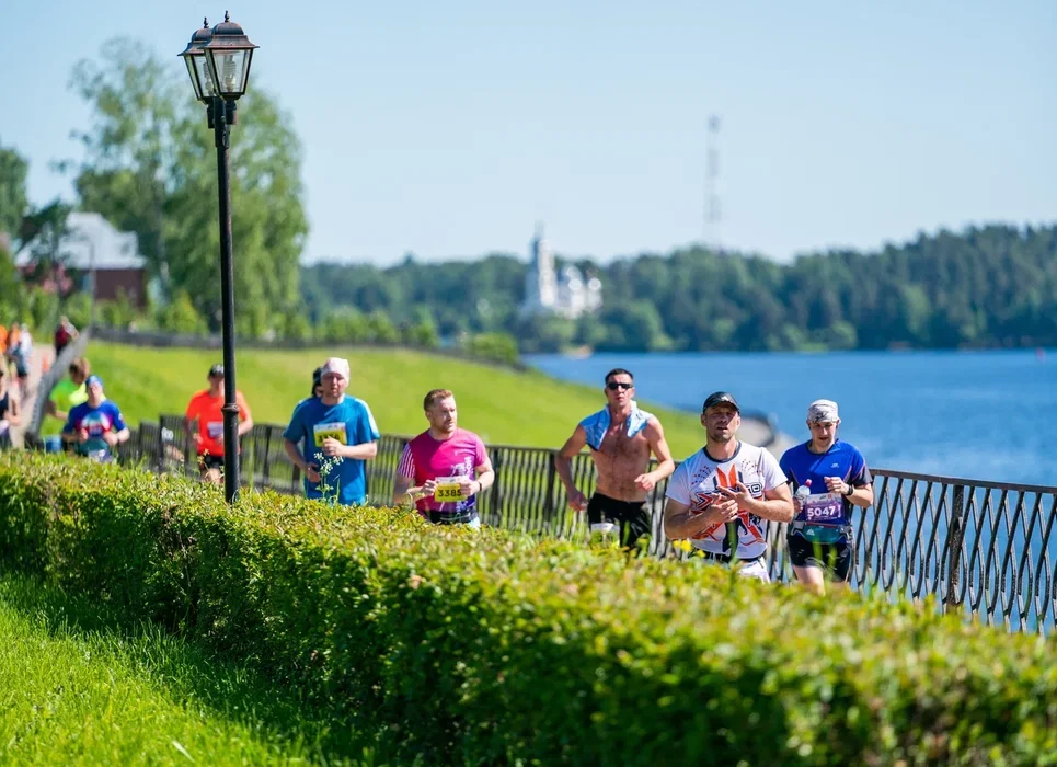
<instances>
[{"instance_id":1,"label":"man in blue t-shirt with white head covering and yellow bib","mask_svg":"<svg viewBox=\"0 0 1057 767\"><path fill-rule=\"evenodd\" d=\"M345 393L347 359L328 359L320 382L322 397L302 400L294 409L283 434L286 453L305 474L308 497L361 505L367 501L365 461L377 455L381 435L367 403Z\"/></svg>"}]
</instances>

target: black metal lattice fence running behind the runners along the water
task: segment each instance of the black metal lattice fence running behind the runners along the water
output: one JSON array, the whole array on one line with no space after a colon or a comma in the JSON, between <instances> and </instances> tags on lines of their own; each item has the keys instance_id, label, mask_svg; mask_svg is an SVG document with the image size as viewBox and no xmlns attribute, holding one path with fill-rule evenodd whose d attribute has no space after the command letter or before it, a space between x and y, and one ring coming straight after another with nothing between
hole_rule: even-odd
<instances>
[{"instance_id":1,"label":"black metal lattice fence running behind the runners along the water","mask_svg":"<svg viewBox=\"0 0 1057 767\"><path fill-rule=\"evenodd\" d=\"M156 471L197 476L194 448L180 415L141 423L122 461ZM370 503L388 505L407 437L383 436L368 462ZM554 450L493 445L495 483L479 511L486 525L587 539L585 515L566 505L554 469ZM187 460L186 457L191 457ZM283 427L257 424L242 438L244 486L300 492L297 468L286 455ZM866 594L920 599L935 595L943 609L963 611L1009 630L1052 633L1057 619L1057 488L983 482L876 469L874 505L858 512L857 561L851 585ZM573 460L573 477L590 494L589 456ZM646 497L653 519L650 553L679 557L664 536L667 481ZM768 526L768 568L775 581L792 580L785 525Z\"/></svg>"}]
</instances>

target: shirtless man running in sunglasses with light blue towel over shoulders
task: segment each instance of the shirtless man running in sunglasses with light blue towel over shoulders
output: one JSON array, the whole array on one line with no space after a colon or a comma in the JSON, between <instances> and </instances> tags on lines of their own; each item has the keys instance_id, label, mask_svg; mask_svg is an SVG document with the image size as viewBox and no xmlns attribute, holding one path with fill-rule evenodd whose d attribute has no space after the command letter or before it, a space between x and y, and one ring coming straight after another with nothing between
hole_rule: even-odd
<instances>
[{"instance_id":1,"label":"shirtless man running in sunglasses with light blue towel over shoulders","mask_svg":"<svg viewBox=\"0 0 1057 767\"><path fill-rule=\"evenodd\" d=\"M610 370L605 392L607 405L576 425L554 457L554 467L568 505L577 512L587 510L591 530L611 529L619 523L621 545L633 549L651 530L650 514L643 508L646 493L675 471L675 461L660 421L635 403L634 376L619 367ZM584 445L590 446L598 474L589 502L577 490L572 471L572 459ZM647 472L651 451L657 457L657 468Z\"/></svg>"}]
</instances>

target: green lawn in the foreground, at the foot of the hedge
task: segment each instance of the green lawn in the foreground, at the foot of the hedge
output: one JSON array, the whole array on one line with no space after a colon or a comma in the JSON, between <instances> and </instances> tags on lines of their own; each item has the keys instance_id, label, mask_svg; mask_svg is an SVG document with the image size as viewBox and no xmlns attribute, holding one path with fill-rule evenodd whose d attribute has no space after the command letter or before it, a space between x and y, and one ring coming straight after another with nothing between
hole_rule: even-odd
<instances>
[{"instance_id":1,"label":"green lawn in the foreground, at the foot of the hedge","mask_svg":"<svg viewBox=\"0 0 1057 767\"><path fill-rule=\"evenodd\" d=\"M0 762L378 764L245 667L32 579L0 579ZM388 751L388 749L382 749Z\"/></svg>"}]
</instances>

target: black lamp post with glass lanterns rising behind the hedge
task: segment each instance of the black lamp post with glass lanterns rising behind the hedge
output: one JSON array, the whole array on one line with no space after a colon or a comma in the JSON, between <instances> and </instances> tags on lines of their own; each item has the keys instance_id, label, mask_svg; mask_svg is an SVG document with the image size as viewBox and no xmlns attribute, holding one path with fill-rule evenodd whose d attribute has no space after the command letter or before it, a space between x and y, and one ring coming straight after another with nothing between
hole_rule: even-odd
<instances>
[{"instance_id":1,"label":"black lamp post with glass lanterns rising behind the hedge","mask_svg":"<svg viewBox=\"0 0 1057 767\"><path fill-rule=\"evenodd\" d=\"M242 27L223 13L223 22L203 27L191 36L182 54L195 89L207 107L209 127L217 145L217 179L220 191L220 309L223 331L223 493L228 503L239 492L239 405L234 377L234 273L231 267L231 187L228 164L230 126L235 124L235 102L250 82L250 60L256 48Z\"/></svg>"}]
</instances>

